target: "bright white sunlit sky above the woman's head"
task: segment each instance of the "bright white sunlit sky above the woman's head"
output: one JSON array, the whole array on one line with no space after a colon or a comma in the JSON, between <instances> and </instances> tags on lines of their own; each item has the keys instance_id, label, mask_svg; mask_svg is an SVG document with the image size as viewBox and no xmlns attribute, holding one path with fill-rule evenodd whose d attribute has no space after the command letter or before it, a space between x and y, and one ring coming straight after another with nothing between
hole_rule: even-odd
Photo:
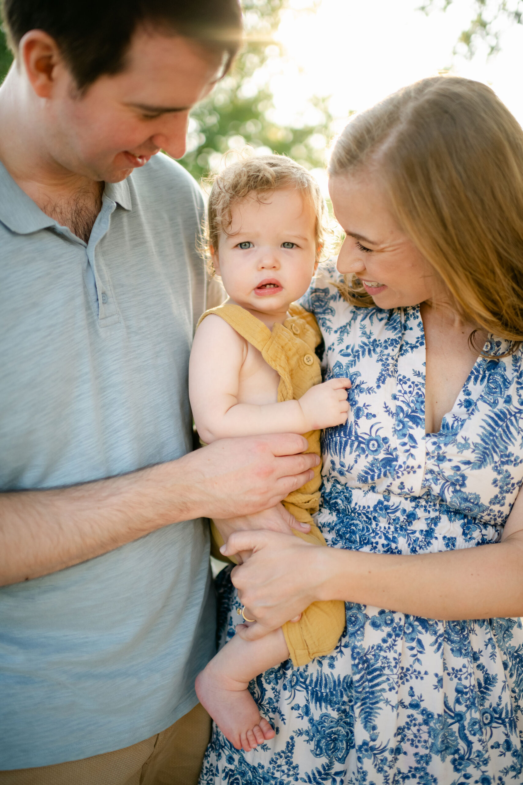
<instances>
[{"instance_id":1,"label":"bright white sunlit sky above the woman's head","mask_svg":"<svg viewBox=\"0 0 523 785\"><path fill-rule=\"evenodd\" d=\"M508 27L502 51L488 62L485 49L472 61L452 58L452 49L475 16L474 3L454 0L445 13L416 11L422 0L291 0L278 40L283 63L268 64L274 120L293 125L311 95L331 96L338 118L410 82L451 67L452 73L486 82L523 124L523 25ZM261 76L261 75L260 75ZM307 122L305 118L305 121ZM340 122L343 126L343 122Z\"/></svg>"}]
</instances>

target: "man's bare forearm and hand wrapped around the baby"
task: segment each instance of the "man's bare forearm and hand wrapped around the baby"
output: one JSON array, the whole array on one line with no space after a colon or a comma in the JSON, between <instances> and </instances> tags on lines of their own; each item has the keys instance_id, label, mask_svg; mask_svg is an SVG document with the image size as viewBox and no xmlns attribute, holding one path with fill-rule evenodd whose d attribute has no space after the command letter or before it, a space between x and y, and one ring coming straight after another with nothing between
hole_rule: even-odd
<instances>
[{"instance_id":1,"label":"man's bare forearm and hand wrapped around the baby","mask_svg":"<svg viewBox=\"0 0 523 785\"><path fill-rule=\"evenodd\" d=\"M74 487L0 494L0 585L100 556L169 524L276 505L311 480L296 434L217 441L176 461Z\"/></svg>"}]
</instances>

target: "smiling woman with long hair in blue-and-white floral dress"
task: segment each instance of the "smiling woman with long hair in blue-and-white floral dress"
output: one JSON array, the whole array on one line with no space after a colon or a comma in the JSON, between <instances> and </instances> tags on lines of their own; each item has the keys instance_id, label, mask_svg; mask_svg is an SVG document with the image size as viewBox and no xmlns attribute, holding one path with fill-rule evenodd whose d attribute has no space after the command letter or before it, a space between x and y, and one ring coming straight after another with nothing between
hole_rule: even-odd
<instances>
[{"instance_id":1,"label":"smiling woman with long hair in blue-and-white floral dress","mask_svg":"<svg viewBox=\"0 0 523 785\"><path fill-rule=\"evenodd\" d=\"M231 535L254 553L222 607L231 634L242 604L274 629L341 599L347 628L251 685L275 738L215 732L201 782L521 783L523 131L485 85L425 79L357 115L329 174L342 275L304 305L352 382L323 442L332 547Z\"/></svg>"}]
</instances>

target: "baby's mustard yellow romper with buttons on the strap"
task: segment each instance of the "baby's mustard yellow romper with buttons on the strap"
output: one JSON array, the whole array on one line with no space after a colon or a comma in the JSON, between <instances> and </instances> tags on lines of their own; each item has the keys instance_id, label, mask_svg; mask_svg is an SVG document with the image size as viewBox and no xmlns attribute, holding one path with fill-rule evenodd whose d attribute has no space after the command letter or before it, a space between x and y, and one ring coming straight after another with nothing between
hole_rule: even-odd
<instances>
[{"instance_id":1,"label":"baby's mustard yellow romper with buttons on the strap","mask_svg":"<svg viewBox=\"0 0 523 785\"><path fill-rule=\"evenodd\" d=\"M198 324L211 313L225 319L245 341L259 349L263 360L274 368L274 371L278 371L278 403L296 400L313 385L320 384L320 363L314 349L321 341L321 333L314 316L300 305L292 303L289 307L289 319L285 319L283 324L274 324L272 330L240 305L228 304L206 311ZM309 443L305 452L321 455L320 432L309 431L303 436ZM292 533L296 537L326 547L325 539L312 518L312 513L318 511L320 485L321 466L318 466L314 469L313 479L300 487L299 491L290 493L283 499L282 504L301 523L311 524L309 534L294 529ZM223 545L223 539L212 522L211 528L215 540L213 553L216 553L216 545L218 548ZM216 556L223 559L219 551ZM287 622L282 627L292 663L295 666L305 665L314 657L330 654L340 640L344 628L343 602L332 600L309 605L303 611L299 622Z\"/></svg>"}]
</instances>

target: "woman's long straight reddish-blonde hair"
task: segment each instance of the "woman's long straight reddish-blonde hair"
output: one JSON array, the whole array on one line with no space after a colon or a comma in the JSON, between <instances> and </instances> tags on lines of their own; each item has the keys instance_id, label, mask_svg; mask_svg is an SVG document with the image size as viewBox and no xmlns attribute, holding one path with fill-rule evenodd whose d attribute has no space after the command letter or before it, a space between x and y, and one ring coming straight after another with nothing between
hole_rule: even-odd
<instances>
[{"instance_id":1,"label":"woman's long straight reddish-blonde hair","mask_svg":"<svg viewBox=\"0 0 523 785\"><path fill-rule=\"evenodd\" d=\"M341 133L331 177L366 167L456 312L514 351L523 338L523 130L507 107L481 82L422 79ZM355 277L343 296L374 305Z\"/></svg>"}]
</instances>

